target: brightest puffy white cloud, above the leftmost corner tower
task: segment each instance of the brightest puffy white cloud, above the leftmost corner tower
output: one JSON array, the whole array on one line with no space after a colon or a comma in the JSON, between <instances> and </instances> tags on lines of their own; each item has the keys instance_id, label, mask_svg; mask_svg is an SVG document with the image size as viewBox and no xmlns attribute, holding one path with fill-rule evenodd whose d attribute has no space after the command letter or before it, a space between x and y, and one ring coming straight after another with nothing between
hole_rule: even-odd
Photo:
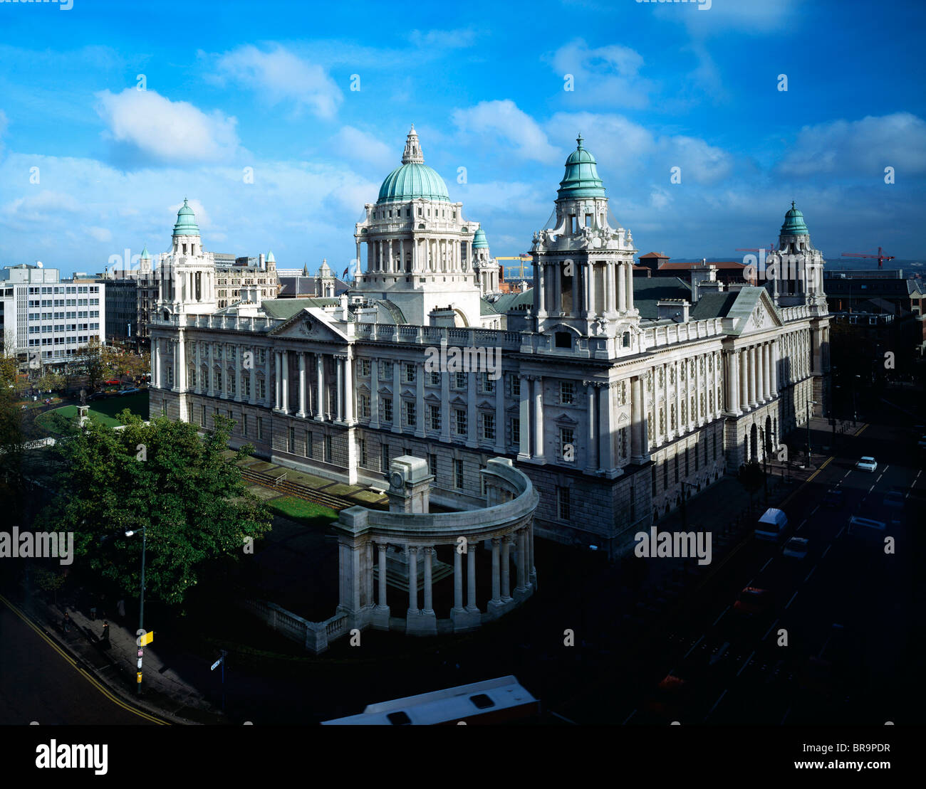
<instances>
[{"instance_id":1,"label":"brightest puffy white cloud, above the leftmost corner tower","mask_svg":"<svg viewBox=\"0 0 926 789\"><path fill-rule=\"evenodd\" d=\"M238 148L234 117L206 115L188 102L171 102L155 91L103 91L97 112L107 135L162 162L217 161Z\"/></svg>"}]
</instances>

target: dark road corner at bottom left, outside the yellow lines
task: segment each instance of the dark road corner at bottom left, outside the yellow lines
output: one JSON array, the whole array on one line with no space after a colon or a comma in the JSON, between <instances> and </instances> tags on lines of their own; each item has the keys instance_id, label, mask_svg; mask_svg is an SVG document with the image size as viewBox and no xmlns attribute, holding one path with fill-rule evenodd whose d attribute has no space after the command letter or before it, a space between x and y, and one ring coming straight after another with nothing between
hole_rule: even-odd
<instances>
[{"instance_id":1,"label":"dark road corner at bottom left, outside the yellow lines","mask_svg":"<svg viewBox=\"0 0 926 789\"><path fill-rule=\"evenodd\" d=\"M153 724L0 600L0 724Z\"/></svg>"}]
</instances>

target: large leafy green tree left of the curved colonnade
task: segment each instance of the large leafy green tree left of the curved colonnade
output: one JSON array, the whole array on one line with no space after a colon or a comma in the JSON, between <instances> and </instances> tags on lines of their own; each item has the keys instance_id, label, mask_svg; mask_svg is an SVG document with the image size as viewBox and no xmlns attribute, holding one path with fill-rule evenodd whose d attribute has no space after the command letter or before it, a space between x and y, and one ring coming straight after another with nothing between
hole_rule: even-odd
<instances>
[{"instance_id":1,"label":"large leafy green tree left of the curved colonnade","mask_svg":"<svg viewBox=\"0 0 926 789\"><path fill-rule=\"evenodd\" d=\"M217 416L202 438L185 422L145 424L128 409L119 419L122 430L91 418L58 442L57 495L39 520L74 532L75 561L126 594L140 586L144 527L145 594L180 605L210 568L244 555L246 539L269 529L269 514L222 454L231 419ZM242 447L237 457L252 449ZM126 538L129 530L139 534Z\"/></svg>"}]
</instances>

